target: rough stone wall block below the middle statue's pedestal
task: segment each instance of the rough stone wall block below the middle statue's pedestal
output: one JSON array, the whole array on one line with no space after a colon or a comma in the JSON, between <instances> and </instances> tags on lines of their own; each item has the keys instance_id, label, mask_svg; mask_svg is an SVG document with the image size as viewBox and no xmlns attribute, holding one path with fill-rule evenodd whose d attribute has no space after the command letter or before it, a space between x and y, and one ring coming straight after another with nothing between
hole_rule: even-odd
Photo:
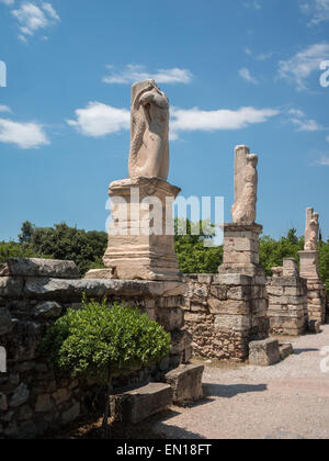
<instances>
[{"instance_id":1,"label":"rough stone wall block below the middle statue's pedestal","mask_svg":"<svg viewBox=\"0 0 329 461\"><path fill-rule=\"evenodd\" d=\"M185 277L183 310L193 351L207 359L242 362L249 342L268 337L265 278L243 274Z\"/></svg>"}]
</instances>

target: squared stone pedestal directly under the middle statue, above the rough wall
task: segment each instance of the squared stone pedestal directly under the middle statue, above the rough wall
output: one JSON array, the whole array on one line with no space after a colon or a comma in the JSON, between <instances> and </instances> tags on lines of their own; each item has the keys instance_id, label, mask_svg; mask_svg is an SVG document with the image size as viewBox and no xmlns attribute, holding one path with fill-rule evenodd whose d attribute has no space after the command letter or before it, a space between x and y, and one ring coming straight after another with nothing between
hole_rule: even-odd
<instances>
[{"instance_id":1,"label":"squared stone pedestal directly under the middle statue, above the rough wall","mask_svg":"<svg viewBox=\"0 0 329 461\"><path fill-rule=\"evenodd\" d=\"M224 224L224 260L219 273L264 276L259 265L260 224Z\"/></svg>"}]
</instances>

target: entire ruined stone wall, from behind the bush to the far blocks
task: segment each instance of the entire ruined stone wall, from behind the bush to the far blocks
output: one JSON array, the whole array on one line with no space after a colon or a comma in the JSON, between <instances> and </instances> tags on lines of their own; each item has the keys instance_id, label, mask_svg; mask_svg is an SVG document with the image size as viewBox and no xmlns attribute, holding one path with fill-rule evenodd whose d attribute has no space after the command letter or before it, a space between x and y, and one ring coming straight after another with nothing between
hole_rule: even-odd
<instances>
[{"instance_id":1,"label":"entire ruined stone wall, from behind the bush to the far blocks","mask_svg":"<svg viewBox=\"0 0 329 461\"><path fill-rule=\"evenodd\" d=\"M102 406L98 386L56 376L39 351L46 329L69 307L79 308L82 293L107 297L110 304L125 301L172 334L170 358L121 376L116 387L159 380L189 361L191 336L195 356L241 362L250 341L268 337L269 321L272 333L299 335L308 317L307 283L296 274L191 274L180 283L81 280L68 269L48 277L0 273L0 346L8 351L8 373L0 378L0 438L35 437Z\"/></svg>"}]
</instances>

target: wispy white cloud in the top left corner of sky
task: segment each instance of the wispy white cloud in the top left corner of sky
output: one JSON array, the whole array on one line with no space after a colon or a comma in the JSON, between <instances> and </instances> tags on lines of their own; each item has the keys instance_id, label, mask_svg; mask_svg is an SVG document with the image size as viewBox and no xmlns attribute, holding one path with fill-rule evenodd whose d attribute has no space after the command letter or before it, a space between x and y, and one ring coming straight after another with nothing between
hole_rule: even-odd
<instances>
[{"instance_id":1,"label":"wispy white cloud in the top left corner of sky","mask_svg":"<svg viewBox=\"0 0 329 461\"><path fill-rule=\"evenodd\" d=\"M60 18L52 3L37 1L25 1L11 14L19 23L19 38L26 42L27 36L34 35L38 30L47 29L60 22Z\"/></svg>"}]
</instances>

